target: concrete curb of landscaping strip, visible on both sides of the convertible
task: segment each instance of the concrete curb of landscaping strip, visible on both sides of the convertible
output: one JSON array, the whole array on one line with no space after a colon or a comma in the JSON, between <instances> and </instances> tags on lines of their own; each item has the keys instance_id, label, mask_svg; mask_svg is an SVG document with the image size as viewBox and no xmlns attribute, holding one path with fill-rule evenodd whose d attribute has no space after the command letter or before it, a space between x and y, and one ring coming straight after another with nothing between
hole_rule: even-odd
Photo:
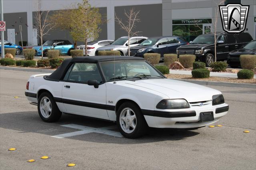
<instances>
[{"instance_id":1,"label":"concrete curb of landscaping strip, visible on both sides of the convertible","mask_svg":"<svg viewBox=\"0 0 256 170\"><path fill-rule=\"evenodd\" d=\"M0 66L0 69L39 72L39 73L53 73L54 72L54 70L25 69L25 68L6 67L6 66ZM228 82L218 82L218 81L200 81L200 80L186 80L186 79L175 79L175 80L186 81L186 82L195 83L195 84L199 84L199 85L213 85L213 86L241 87L241 88L256 89L255 84L248 84L248 83L228 83Z\"/></svg>"}]
</instances>

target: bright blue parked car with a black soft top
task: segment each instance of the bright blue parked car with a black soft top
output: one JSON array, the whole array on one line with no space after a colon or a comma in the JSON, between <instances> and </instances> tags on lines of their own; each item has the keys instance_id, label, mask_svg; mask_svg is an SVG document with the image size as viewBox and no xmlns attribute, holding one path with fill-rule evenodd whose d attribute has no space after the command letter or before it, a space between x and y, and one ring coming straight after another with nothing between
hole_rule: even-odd
<instances>
[{"instance_id":1,"label":"bright blue parked car with a black soft top","mask_svg":"<svg viewBox=\"0 0 256 170\"><path fill-rule=\"evenodd\" d=\"M43 43L43 50L41 46L35 46L32 49L35 49L37 56L43 55L47 56L49 49L58 49L60 53L70 55L70 50L74 49L74 45L70 43L68 40L48 40Z\"/></svg>"}]
</instances>

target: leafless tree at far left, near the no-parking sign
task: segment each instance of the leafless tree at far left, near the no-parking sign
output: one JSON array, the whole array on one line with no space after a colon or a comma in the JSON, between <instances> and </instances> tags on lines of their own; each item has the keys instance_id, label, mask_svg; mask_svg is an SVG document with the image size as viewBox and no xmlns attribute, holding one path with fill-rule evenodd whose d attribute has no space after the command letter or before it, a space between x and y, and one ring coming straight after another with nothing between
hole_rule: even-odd
<instances>
[{"instance_id":1,"label":"leafless tree at far left, near the no-parking sign","mask_svg":"<svg viewBox=\"0 0 256 170\"><path fill-rule=\"evenodd\" d=\"M43 59L43 37L45 35L47 35L49 33L50 30L52 30L52 28L54 28L55 24L51 23L49 20L49 11L44 11L41 8L41 4L40 1L38 0L37 3L37 9L36 9L36 23L34 25L35 28L37 28L38 32L38 36L40 37L40 41L41 41L41 49L42 49L42 59Z\"/></svg>"}]
</instances>

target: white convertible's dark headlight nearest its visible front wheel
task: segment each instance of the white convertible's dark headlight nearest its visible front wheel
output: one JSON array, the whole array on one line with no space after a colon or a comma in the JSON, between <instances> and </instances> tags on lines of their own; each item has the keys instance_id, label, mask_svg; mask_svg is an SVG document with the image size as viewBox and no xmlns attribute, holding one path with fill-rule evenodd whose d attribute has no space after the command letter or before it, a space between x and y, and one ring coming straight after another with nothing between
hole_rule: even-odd
<instances>
[{"instance_id":1,"label":"white convertible's dark headlight nearest its visible front wheel","mask_svg":"<svg viewBox=\"0 0 256 170\"><path fill-rule=\"evenodd\" d=\"M185 99L164 99L156 105L156 109L187 109L190 108Z\"/></svg>"}]
</instances>

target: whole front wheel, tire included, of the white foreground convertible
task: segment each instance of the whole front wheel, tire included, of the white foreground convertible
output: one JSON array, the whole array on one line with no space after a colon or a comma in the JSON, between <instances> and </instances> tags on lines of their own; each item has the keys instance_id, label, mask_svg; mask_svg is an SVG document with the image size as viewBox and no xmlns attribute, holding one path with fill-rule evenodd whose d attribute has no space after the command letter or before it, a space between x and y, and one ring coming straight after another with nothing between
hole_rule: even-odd
<instances>
[{"instance_id":1,"label":"whole front wheel, tire included, of the white foreground convertible","mask_svg":"<svg viewBox=\"0 0 256 170\"><path fill-rule=\"evenodd\" d=\"M121 134L126 138L138 138L147 129L140 108L132 102L125 102L119 107L116 123Z\"/></svg>"}]
</instances>

